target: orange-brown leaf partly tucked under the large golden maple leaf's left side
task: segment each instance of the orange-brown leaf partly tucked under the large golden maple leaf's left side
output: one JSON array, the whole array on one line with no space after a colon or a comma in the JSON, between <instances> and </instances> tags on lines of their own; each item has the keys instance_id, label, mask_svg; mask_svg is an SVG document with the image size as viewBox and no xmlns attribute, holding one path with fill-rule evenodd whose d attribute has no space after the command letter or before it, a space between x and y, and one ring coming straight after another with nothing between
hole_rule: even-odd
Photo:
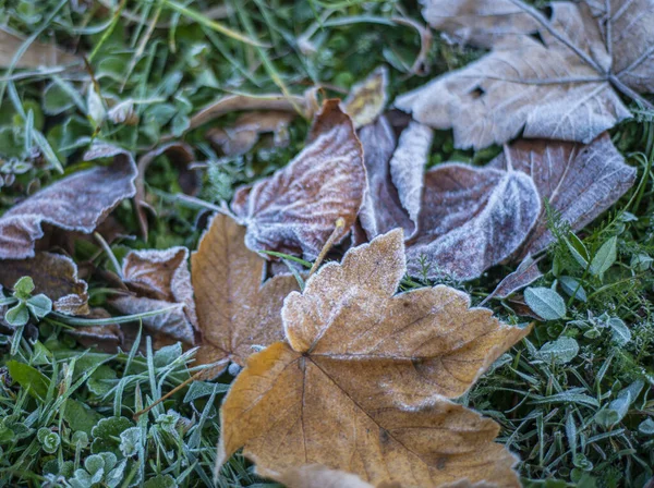
<instances>
[{"instance_id":1,"label":"orange-brown leaf partly tucked under the large golden maple leaf's left side","mask_svg":"<svg viewBox=\"0 0 654 488\"><path fill-rule=\"evenodd\" d=\"M199 364L220 363L207 371L220 373L228 361L241 366L255 350L283 337L281 305L298 282L278 274L265 283L265 259L243 244L245 228L216 215L191 258L197 319L202 331Z\"/></svg>"}]
</instances>

